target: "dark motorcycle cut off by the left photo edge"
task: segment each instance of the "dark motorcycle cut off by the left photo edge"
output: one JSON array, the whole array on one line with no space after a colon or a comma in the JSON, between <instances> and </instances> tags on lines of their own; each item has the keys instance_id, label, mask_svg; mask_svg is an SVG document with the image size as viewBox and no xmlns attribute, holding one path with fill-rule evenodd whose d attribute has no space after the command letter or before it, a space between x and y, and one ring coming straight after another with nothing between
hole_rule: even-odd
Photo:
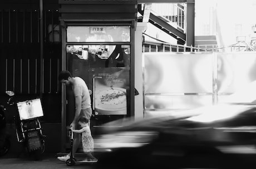
<instances>
[{"instance_id":1,"label":"dark motorcycle cut off by the left photo edge","mask_svg":"<svg viewBox=\"0 0 256 169\"><path fill-rule=\"evenodd\" d=\"M6 155L11 146L9 135L6 131L6 105L11 103L12 94L9 95L9 99L6 104L0 104L0 156Z\"/></svg>"}]
</instances>

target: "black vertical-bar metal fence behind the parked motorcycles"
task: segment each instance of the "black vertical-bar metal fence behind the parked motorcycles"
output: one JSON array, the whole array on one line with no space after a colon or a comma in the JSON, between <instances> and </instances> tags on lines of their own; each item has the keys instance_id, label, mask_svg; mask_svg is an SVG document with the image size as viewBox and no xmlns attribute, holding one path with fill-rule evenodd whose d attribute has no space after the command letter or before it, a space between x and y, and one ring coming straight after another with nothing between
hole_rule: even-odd
<instances>
[{"instance_id":1,"label":"black vertical-bar metal fence behind the parked motorcycles","mask_svg":"<svg viewBox=\"0 0 256 169\"><path fill-rule=\"evenodd\" d=\"M0 92L17 94L60 92L61 33L57 10L43 11L43 60L40 54L40 10L0 10ZM43 74L40 73L43 66ZM40 78L43 78L41 84Z\"/></svg>"}]
</instances>

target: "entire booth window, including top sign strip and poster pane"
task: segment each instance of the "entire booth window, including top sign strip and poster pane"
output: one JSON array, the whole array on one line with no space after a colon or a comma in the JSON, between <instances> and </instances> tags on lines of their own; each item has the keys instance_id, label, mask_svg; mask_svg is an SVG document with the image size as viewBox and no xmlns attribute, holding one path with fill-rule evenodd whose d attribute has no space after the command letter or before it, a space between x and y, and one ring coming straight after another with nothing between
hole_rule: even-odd
<instances>
[{"instance_id":1,"label":"entire booth window, including top sign strip and poster pane","mask_svg":"<svg viewBox=\"0 0 256 169\"><path fill-rule=\"evenodd\" d=\"M130 35L130 25L67 27L67 69L92 91L95 115L127 115Z\"/></svg>"}]
</instances>

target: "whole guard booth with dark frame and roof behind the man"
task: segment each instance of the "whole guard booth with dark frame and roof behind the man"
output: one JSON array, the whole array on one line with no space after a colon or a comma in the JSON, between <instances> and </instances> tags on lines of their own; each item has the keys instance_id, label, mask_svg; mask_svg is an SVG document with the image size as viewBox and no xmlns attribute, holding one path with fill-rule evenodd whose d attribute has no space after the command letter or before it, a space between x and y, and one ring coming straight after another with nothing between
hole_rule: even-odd
<instances>
[{"instance_id":1,"label":"whole guard booth with dark frame and roof behind the man","mask_svg":"<svg viewBox=\"0 0 256 169\"><path fill-rule=\"evenodd\" d=\"M62 70L85 80L91 95L92 135L106 122L134 116L134 40L137 1L59 0ZM62 86L62 152L75 98Z\"/></svg>"}]
</instances>

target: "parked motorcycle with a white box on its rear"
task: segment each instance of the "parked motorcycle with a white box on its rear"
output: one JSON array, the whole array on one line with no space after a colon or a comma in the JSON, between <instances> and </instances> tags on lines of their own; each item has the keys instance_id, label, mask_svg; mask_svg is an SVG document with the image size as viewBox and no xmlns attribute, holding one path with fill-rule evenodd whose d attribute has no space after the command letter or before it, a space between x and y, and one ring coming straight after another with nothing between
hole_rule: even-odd
<instances>
[{"instance_id":1,"label":"parked motorcycle with a white box on its rear","mask_svg":"<svg viewBox=\"0 0 256 169\"><path fill-rule=\"evenodd\" d=\"M13 91L6 92L9 96ZM42 132L40 117L43 117L40 99L17 102L18 114L14 116L14 125L18 142L23 144L24 150L35 160L39 160L45 152L45 135Z\"/></svg>"}]
</instances>

